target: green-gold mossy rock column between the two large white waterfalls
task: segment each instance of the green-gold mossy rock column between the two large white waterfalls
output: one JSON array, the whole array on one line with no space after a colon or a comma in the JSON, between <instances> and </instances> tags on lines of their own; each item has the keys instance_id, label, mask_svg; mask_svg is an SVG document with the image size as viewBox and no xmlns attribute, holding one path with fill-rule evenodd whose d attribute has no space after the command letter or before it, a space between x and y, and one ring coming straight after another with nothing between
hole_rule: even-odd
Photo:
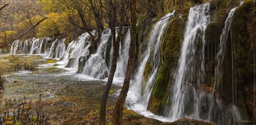
<instances>
[{"instance_id":1,"label":"green-gold mossy rock column between the two large white waterfalls","mask_svg":"<svg viewBox=\"0 0 256 125\"><path fill-rule=\"evenodd\" d=\"M169 95L169 83L173 82L176 62L180 56L185 20L179 17L170 19L165 35L161 41L161 65L149 101L149 111L163 114L165 102Z\"/></svg>"}]
</instances>

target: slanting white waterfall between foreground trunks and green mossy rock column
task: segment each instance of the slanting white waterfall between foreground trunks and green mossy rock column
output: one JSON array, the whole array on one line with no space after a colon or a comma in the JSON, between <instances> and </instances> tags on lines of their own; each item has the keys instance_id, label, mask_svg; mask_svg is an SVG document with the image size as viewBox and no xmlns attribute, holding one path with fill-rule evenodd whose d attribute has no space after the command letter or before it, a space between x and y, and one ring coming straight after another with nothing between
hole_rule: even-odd
<instances>
[{"instance_id":1,"label":"slanting white waterfall between foreground trunks and green mossy rock column","mask_svg":"<svg viewBox=\"0 0 256 125\"><path fill-rule=\"evenodd\" d=\"M154 86L155 77L158 73L158 66L160 63L160 44L161 38L164 33L164 29L169 22L171 16L173 16L175 11L172 13L166 14L160 21L156 22L154 28L151 31L150 37L147 38L145 42L146 48L143 52L140 60L139 69L134 78L134 84L128 92L128 98L133 100L133 102L140 103L143 106L143 109L148 107L149 97L151 96L151 91ZM149 58L151 59L149 61ZM152 70L149 74L149 79L144 79L143 73L145 72L146 64L152 63ZM142 90L142 84L145 82L145 89ZM142 92L142 93L141 93Z\"/></svg>"}]
</instances>

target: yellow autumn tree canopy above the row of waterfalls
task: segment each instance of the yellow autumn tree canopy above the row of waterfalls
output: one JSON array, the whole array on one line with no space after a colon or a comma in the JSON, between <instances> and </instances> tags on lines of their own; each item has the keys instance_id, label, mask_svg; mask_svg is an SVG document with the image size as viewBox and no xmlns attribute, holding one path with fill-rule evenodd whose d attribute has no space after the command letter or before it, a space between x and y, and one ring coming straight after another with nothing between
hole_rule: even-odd
<instances>
[{"instance_id":1,"label":"yellow autumn tree canopy above the row of waterfalls","mask_svg":"<svg viewBox=\"0 0 256 125\"><path fill-rule=\"evenodd\" d=\"M122 3L125 0L118 0ZM177 0L176 0L177 1ZM140 0L137 3L138 18L155 17L158 13L168 11L170 0ZM0 11L0 44L6 48L28 28L39 20L48 17L39 26L31 29L21 39L32 37L78 37L83 32L96 29L101 34L109 28L109 7L107 0L0 0L0 5L9 4ZM123 8L117 7L117 11ZM122 10L130 13L128 10ZM125 14L127 20L129 16ZM119 26L117 15L116 26ZM129 25L125 22L124 25Z\"/></svg>"}]
</instances>

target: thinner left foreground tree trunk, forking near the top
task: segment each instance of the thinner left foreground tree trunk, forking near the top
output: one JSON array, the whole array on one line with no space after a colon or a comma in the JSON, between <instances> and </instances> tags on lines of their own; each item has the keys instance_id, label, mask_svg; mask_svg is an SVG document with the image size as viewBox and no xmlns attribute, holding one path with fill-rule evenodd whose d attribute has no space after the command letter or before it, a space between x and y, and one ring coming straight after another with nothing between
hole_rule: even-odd
<instances>
[{"instance_id":1,"label":"thinner left foreground tree trunk, forking near the top","mask_svg":"<svg viewBox=\"0 0 256 125\"><path fill-rule=\"evenodd\" d=\"M108 99L108 93L110 91L113 78L114 78L114 73L116 72L116 66L117 66L117 58L119 56L119 43L121 40L121 35L122 35L122 25L124 22L124 14L121 15L120 19L120 24L118 33L117 33L117 39L116 39L116 9L111 6L112 1L110 0L110 28L111 28L111 36L112 36L112 41L113 41L113 59L111 62L111 68L110 68L110 74L108 75L108 81L105 87L104 95L102 96L101 100L101 109L99 111L99 124L100 125L105 125L106 123L106 105L107 105L107 99ZM122 12L121 12L122 13Z\"/></svg>"}]
</instances>

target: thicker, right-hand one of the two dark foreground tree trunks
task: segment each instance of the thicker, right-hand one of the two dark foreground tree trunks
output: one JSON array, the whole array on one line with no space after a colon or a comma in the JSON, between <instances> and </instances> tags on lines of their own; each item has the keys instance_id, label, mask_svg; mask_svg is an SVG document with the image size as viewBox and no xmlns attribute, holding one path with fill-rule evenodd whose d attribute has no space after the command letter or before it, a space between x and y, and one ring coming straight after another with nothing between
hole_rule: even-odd
<instances>
[{"instance_id":1,"label":"thicker, right-hand one of the two dark foreground tree trunks","mask_svg":"<svg viewBox=\"0 0 256 125\"><path fill-rule=\"evenodd\" d=\"M130 80L131 75L134 70L134 56L135 56L135 44L136 44L136 5L137 0L130 0L130 11L131 11L131 43L129 49L129 59L127 70L125 73L125 80L123 81L123 87L119 98L117 99L116 106L114 107L114 114L113 114L113 124L119 125L122 122L122 115L123 115L123 105L125 104L125 98L127 96L129 87L130 87Z\"/></svg>"}]
</instances>

